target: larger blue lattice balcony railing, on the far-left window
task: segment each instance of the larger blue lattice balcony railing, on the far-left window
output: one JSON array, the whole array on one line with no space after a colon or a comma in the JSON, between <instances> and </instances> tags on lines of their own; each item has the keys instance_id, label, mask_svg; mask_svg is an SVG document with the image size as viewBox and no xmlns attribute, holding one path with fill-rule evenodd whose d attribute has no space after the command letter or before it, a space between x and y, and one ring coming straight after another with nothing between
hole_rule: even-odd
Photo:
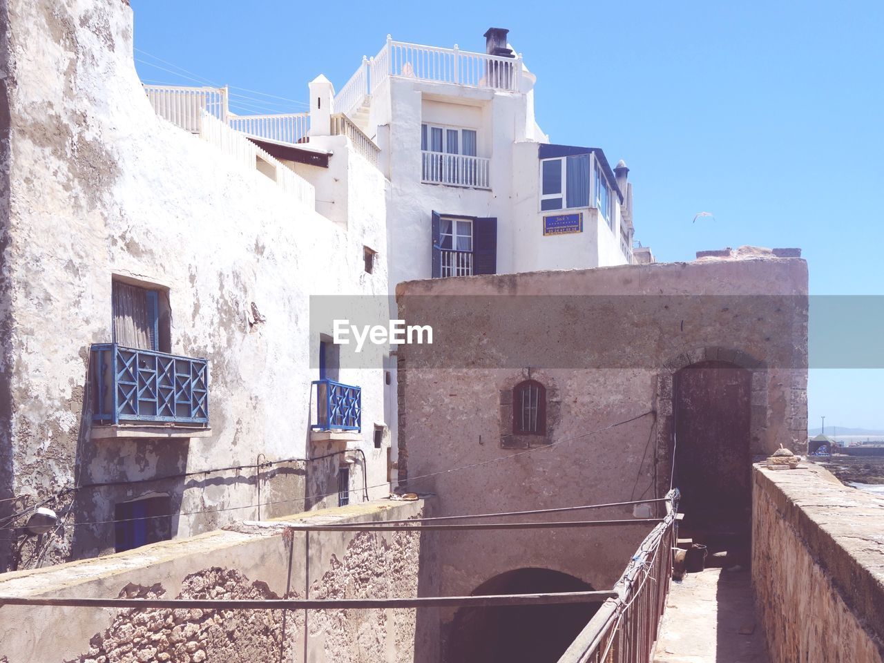
<instances>
[{"instance_id":1,"label":"larger blue lattice balcony railing, on the far-left window","mask_svg":"<svg viewBox=\"0 0 884 663\"><path fill-rule=\"evenodd\" d=\"M92 346L96 423L209 425L209 362L103 343Z\"/></svg>"}]
</instances>

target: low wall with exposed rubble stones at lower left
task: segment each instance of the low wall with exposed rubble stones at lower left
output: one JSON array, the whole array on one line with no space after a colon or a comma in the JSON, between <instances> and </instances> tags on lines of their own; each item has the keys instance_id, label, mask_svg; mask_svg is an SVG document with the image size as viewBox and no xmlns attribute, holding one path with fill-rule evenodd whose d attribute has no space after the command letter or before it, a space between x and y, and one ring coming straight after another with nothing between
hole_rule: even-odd
<instances>
[{"instance_id":1,"label":"low wall with exposed rubble stones at lower left","mask_svg":"<svg viewBox=\"0 0 884 663\"><path fill-rule=\"evenodd\" d=\"M299 523L418 517L423 502L317 511ZM278 519L191 539L0 576L0 594L122 598L304 598L305 535ZM310 598L418 595L421 535L314 532ZM429 591L431 595L433 592ZM427 594L422 594L427 595ZM414 660L414 609L311 611L311 663ZM9 663L304 661L303 611L96 610L0 607L0 659ZM59 630L59 625L64 629Z\"/></svg>"}]
</instances>

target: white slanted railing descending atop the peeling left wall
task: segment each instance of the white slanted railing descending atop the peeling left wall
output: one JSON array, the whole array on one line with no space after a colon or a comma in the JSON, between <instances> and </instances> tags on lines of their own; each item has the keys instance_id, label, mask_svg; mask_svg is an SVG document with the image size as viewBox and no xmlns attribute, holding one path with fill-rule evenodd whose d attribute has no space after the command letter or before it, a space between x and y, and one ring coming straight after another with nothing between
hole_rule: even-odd
<instances>
[{"instance_id":1,"label":"white slanted railing descending atop the peeling left wall","mask_svg":"<svg viewBox=\"0 0 884 663\"><path fill-rule=\"evenodd\" d=\"M260 171L311 210L316 209L316 189L291 168L225 125L206 111L200 116L200 137L232 156L251 171Z\"/></svg>"}]
</instances>

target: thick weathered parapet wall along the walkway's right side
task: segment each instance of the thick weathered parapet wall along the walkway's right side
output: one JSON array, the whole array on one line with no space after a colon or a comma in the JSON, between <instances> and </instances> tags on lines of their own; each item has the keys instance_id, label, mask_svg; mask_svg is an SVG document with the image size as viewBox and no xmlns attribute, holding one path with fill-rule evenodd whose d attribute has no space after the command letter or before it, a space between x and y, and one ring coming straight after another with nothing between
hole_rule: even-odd
<instances>
[{"instance_id":1,"label":"thick weathered parapet wall along the walkway's right side","mask_svg":"<svg viewBox=\"0 0 884 663\"><path fill-rule=\"evenodd\" d=\"M884 499L756 467L752 583L772 663L884 661Z\"/></svg>"}]
</instances>

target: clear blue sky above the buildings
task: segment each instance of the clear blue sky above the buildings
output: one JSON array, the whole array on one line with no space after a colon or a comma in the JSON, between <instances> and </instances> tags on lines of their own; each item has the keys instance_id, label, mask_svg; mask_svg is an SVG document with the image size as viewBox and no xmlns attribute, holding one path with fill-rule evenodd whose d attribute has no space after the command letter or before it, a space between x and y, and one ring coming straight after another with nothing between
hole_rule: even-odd
<instances>
[{"instance_id":1,"label":"clear blue sky above the buildings","mask_svg":"<svg viewBox=\"0 0 884 663\"><path fill-rule=\"evenodd\" d=\"M264 93L233 89L240 112L304 110L309 80L339 88L387 33L484 50L507 27L552 141L629 164L636 239L659 260L800 247L812 293L884 294L884 3L132 5L142 80L193 83L156 65L182 67ZM714 220L691 223L701 210ZM810 425L884 429L882 385L880 369L812 370Z\"/></svg>"}]
</instances>

